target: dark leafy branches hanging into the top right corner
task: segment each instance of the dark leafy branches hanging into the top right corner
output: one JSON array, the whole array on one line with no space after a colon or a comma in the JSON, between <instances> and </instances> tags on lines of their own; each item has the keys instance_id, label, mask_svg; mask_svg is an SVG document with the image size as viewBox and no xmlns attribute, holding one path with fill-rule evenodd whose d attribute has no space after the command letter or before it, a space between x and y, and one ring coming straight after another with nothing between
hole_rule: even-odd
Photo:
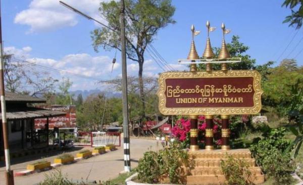
<instances>
[{"instance_id":1,"label":"dark leafy branches hanging into the top right corner","mask_svg":"<svg viewBox=\"0 0 303 185\"><path fill-rule=\"evenodd\" d=\"M286 16L283 23L289 23L288 26L294 26L300 29L303 21L303 1L302 0L285 0L282 7L290 8L291 15Z\"/></svg>"}]
</instances>

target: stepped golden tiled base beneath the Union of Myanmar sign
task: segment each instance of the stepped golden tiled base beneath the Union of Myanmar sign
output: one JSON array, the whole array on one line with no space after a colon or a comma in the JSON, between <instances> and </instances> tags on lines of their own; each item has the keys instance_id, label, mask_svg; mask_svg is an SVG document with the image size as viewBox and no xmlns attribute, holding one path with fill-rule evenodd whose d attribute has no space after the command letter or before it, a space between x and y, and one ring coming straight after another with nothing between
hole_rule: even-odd
<instances>
[{"instance_id":1,"label":"stepped golden tiled base beneath the Union of Myanmar sign","mask_svg":"<svg viewBox=\"0 0 303 185\"><path fill-rule=\"evenodd\" d=\"M196 150L189 151L189 157L195 161L195 168L191 170L191 175L187 176L187 184L223 184L225 176L220 167L221 159L226 159L227 155L232 155L235 159L241 159L248 163L252 180L255 184L264 182L264 174L261 168L256 166L255 159L251 158L248 149L233 150Z\"/></svg>"}]
</instances>

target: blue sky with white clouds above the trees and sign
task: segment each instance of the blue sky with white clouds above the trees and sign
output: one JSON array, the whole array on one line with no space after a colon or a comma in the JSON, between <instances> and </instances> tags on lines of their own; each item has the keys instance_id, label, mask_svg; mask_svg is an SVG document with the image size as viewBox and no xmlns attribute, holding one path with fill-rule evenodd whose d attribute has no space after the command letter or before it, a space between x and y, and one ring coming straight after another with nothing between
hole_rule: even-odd
<instances>
[{"instance_id":1,"label":"blue sky with white clouds above the trees and sign","mask_svg":"<svg viewBox=\"0 0 303 185\"><path fill-rule=\"evenodd\" d=\"M65 3L102 21L98 16L98 4L102 0L65 0ZM195 37L198 54L201 55L206 43L206 21L217 27L211 33L212 46L221 46L220 25L225 23L232 35L249 46L247 54L258 64L269 60L279 63L283 58L293 58L303 65L302 30L289 28L282 24L289 9L281 7L283 1L172 1L176 7L176 24L162 29L153 46L172 64L182 70L185 66L177 64L179 58L186 58L190 46L190 26L195 25L201 33ZM109 79L121 75L120 52L117 64L111 74L111 61L115 52L100 49L96 53L91 47L90 31L97 28L95 23L78 16L59 5L57 0L3 0L2 26L5 52L14 53L16 58L35 62L72 73L92 76L94 79ZM295 37L294 37L295 36ZM291 41L291 39L294 39ZM285 50L286 46L289 47ZM284 51L285 50L285 51ZM283 53L284 51L284 53ZM163 70L146 53L145 75L157 76ZM39 69L40 70L40 69ZM129 75L137 75L137 63L128 60ZM96 80L76 77L66 73L52 72L58 79L63 76L73 81L72 90L100 88Z\"/></svg>"}]
</instances>

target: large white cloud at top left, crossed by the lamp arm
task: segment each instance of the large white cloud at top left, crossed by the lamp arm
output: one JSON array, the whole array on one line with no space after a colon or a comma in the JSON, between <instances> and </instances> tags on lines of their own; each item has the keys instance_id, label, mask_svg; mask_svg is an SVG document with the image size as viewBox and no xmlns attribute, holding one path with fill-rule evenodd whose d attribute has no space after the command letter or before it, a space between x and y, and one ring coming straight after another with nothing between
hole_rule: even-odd
<instances>
[{"instance_id":1,"label":"large white cloud at top left, crossed by the lamp arm","mask_svg":"<svg viewBox=\"0 0 303 185\"><path fill-rule=\"evenodd\" d=\"M100 2L108 0L66 0L66 4L79 9L94 18L100 18L98 8ZM14 22L30 26L28 33L47 32L63 27L75 26L77 14L59 4L56 0L33 0L28 9L19 12Z\"/></svg>"}]
</instances>

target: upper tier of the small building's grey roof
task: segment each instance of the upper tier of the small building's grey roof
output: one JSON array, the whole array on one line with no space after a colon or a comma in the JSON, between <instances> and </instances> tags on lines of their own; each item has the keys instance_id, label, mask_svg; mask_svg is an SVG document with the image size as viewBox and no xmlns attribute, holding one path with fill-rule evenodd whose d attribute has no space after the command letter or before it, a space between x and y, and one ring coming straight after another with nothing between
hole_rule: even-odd
<instances>
[{"instance_id":1,"label":"upper tier of the small building's grey roof","mask_svg":"<svg viewBox=\"0 0 303 185\"><path fill-rule=\"evenodd\" d=\"M10 91L5 92L5 100L7 102L28 102L28 103L45 103L46 100L34 98L28 95L21 95L17 93L12 93Z\"/></svg>"}]
</instances>

